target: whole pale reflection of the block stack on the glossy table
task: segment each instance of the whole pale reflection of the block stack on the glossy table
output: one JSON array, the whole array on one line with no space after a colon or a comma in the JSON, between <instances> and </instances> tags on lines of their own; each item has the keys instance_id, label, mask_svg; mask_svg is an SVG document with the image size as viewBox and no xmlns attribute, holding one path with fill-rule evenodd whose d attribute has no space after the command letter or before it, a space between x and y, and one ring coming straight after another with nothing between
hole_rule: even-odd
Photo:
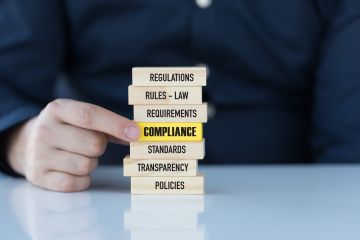
<instances>
[{"instance_id":1,"label":"whole pale reflection of the block stack on the glossy table","mask_svg":"<svg viewBox=\"0 0 360 240\"><path fill-rule=\"evenodd\" d=\"M202 240L205 226L203 195L132 195L124 212L124 228L130 239Z\"/></svg>"}]
</instances>

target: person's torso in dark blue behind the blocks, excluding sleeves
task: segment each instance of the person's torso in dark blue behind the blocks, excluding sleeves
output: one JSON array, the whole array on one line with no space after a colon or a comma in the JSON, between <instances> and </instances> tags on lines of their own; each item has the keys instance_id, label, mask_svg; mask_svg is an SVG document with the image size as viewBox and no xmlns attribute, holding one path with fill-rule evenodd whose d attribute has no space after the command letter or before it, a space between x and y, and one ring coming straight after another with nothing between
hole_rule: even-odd
<instances>
[{"instance_id":1,"label":"person's torso in dark blue behind the blocks, excluding sleeves","mask_svg":"<svg viewBox=\"0 0 360 240\"><path fill-rule=\"evenodd\" d=\"M201 1L199 1L201 2ZM310 160L311 98L331 1L64 1L67 87L131 117L133 66L208 67L210 163Z\"/></svg>"}]
</instances>

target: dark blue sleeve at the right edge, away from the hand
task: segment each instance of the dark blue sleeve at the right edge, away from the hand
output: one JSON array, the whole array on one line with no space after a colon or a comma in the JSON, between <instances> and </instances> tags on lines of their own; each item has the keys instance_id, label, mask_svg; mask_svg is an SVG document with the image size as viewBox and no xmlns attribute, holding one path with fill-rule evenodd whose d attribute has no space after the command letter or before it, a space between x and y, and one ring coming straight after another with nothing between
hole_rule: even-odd
<instances>
[{"instance_id":1,"label":"dark blue sleeve at the right edge, away from the hand","mask_svg":"<svg viewBox=\"0 0 360 240\"><path fill-rule=\"evenodd\" d=\"M312 147L317 162L360 159L360 1L338 1L316 72Z\"/></svg>"}]
</instances>

